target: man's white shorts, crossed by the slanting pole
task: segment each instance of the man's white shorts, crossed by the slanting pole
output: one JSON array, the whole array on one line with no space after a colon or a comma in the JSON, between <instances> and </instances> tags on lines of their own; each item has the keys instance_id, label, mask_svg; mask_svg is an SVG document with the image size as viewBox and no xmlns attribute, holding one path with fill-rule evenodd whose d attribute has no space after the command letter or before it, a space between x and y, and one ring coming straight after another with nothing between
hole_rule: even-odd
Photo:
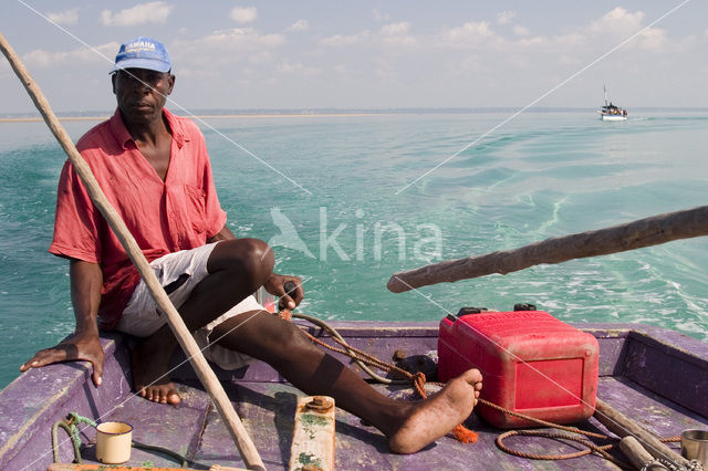
<instances>
[{"instance_id":1,"label":"man's white shorts, crossed by the slanting pole","mask_svg":"<svg viewBox=\"0 0 708 471\"><path fill-rule=\"evenodd\" d=\"M216 243L209 243L197 249L168 253L150 263L175 307L179 308L195 286L207 276L207 261L215 247ZM208 360L226 370L238 369L256 360L242 353L210 344L209 341L209 335L217 325L249 311L264 311L252 295L194 333L197 345ZM166 323L167 315L157 306L147 285L140 280L123 311L116 331L136 337L147 337Z\"/></svg>"}]
</instances>

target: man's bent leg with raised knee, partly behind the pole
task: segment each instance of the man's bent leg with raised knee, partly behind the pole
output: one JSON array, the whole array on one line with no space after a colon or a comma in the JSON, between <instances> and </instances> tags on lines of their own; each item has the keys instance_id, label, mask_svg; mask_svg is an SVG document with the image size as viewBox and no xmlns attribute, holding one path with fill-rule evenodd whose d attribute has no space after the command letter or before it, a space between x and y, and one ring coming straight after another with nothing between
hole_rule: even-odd
<instances>
[{"instance_id":1,"label":"man's bent leg with raised knee, partly behind the pole","mask_svg":"<svg viewBox=\"0 0 708 471\"><path fill-rule=\"evenodd\" d=\"M273 253L263 241L236 239L216 244L207 262L208 275L179 307L189 332L214 321L266 283L273 270ZM178 404L168 366L177 346L169 325L140 341L133 350L133 384L140 396Z\"/></svg>"}]
</instances>

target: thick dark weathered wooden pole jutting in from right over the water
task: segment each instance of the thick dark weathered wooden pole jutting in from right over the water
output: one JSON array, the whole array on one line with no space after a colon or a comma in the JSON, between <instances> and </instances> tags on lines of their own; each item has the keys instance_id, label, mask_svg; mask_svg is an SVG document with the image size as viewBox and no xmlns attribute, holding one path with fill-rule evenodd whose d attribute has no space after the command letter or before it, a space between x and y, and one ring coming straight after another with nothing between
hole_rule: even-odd
<instances>
[{"instance_id":1,"label":"thick dark weathered wooden pole jutting in from right over the water","mask_svg":"<svg viewBox=\"0 0 708 471\"><path fill-rule=\"evenodd\" d=\"M520 249L448 260L398 272L388 280L394 293L441 282L507 274L541 263L606 255L678 239L708 236L708 206L667 212L596 231L546 239Z\"/></svg>"}]
</instances>

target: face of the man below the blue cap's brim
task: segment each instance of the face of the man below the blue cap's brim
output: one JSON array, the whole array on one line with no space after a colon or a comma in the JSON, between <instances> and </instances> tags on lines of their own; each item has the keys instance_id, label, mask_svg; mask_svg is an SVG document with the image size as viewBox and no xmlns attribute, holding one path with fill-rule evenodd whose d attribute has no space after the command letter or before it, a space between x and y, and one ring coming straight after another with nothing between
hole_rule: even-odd
<instances>
[{"instance_id":1,"label":"face of the man below the blue cap's brim","mask_svg":"<svg viewBox=\"0 0 708 471\"><path fill-rule=\"evenodd\" d=\"M126 69L113 74L113 93L124 118L129 122L149 123L162 118L163 106L174 85L175 76L169 72Z\"/></svg>"}]
</instances>

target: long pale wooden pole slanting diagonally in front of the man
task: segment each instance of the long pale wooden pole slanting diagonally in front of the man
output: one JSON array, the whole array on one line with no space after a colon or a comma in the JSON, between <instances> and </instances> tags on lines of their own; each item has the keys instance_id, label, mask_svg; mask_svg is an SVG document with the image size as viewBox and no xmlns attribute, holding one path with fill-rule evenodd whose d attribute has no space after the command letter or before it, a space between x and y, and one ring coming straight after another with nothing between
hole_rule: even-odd
<instances>
[{"instance_id":1,"label":"long pale wooden pole slanting diagonally in front of the man","mask_svg":"<svg viewBox=\"0 0 708 471\"><path fill-rule=\"evenodd\" d=\"M24 88L27 88L28 93L32 97L34 105L37 106L37 109L39 109L39 112L42 114L44 122L50 127L50 129L54 134L54 137L56 137L56 140L59 140L61 146L64 148L64 151L69 156L69 159L76 168L76 172L86 187L86 190L91 196L91 200L96 206L96 208L98 208L103 217L108 222L108 226L111 226L111 229L121 241L121 244L137 268L140 276L143 276L143 280L145 280L145 284L155 299L157 305L167 314L167 320L169 322L170 328L175 333L179 345L181 345L183 349L185 350L187 358L189 358L189 362L197 371L201 384L211 396L214 404L221 415L221 419L229 429L229 432L231 433L231 437L233 438L233 441L236 442L236 446L239 449L243 461L246 462L246 465L249 469L264 470L266 467L263 465L263 462L258 454L258 450L249 438L243 423L241 423L239 416L236 414L236 410L233 410L233 406L226 395L221 383L219 383L219 379L211 370L211 367L201 354L199 346L197 346L194 337L185 326L185 323L179 316L179 313L165 293L163 286L159 284L159 281L155 276L155 273L153 273L153 270L143 255L143 252L140 251L137 242L128 231L128 228L125 226L116 210L106 199L105 195L101 190L101 187L98 186L98 182L91 171L91 167L88 167L83 157L81 157L81 154L79 154L79 150L76 150L76 147L74 147L74 143L71 140L69 134L66 134L66 130L64 130L63 126L52 112L49 102L46 101L46 98L44 98L41 90L34 83L29 72L24 67L24 64L22 64L22 61L14 53L14 50L12 49L12 46L10 46L2 33L0 33L0 49L2 49L2 53L6 57L8 57L8 61L10 61L12 70L14 70L14 73L18 75L18 77L24 85Z\"/></svg>"}]
</instances>

